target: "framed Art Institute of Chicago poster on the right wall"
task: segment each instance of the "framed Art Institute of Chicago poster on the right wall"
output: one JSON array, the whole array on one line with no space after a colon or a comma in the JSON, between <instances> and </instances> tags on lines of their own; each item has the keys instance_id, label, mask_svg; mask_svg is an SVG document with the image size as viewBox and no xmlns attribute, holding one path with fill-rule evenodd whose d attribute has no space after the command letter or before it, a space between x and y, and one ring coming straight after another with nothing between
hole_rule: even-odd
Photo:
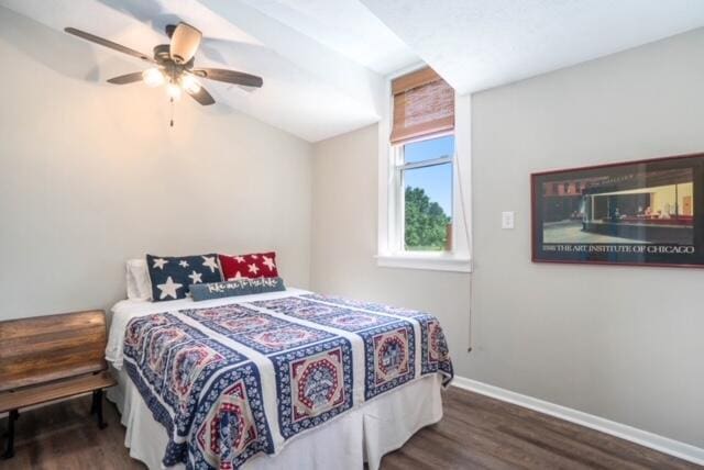
<instances>
[{"instance_id":1,"label":"framed Art Institute of Chicago poster on the right wall","mask_svg":"<svg viewBox=\"0 0 704 470\"><path fill-rule=\"evenodd\" d=\"M704 267L704 154L530 180L534 262Z\"/></svg>"}]
</instances>

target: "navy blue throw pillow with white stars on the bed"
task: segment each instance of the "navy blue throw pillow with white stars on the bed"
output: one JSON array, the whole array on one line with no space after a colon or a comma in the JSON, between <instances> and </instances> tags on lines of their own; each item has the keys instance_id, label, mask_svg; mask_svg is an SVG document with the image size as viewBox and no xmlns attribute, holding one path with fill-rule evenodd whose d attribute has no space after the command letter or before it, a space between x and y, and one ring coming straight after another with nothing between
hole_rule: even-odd
<instances>
[{"instance_id":1,"label":"navy blue throw pillow with white stars on the bed","mask_svg":"<svg viewBox=\"0 0 704 470\"><path fill-rule=\"evenodd\" d=\"M154 256L146 255L154 302L184 299L188 286L222 281L218 255Z\"/></svg>"}]
</instances>

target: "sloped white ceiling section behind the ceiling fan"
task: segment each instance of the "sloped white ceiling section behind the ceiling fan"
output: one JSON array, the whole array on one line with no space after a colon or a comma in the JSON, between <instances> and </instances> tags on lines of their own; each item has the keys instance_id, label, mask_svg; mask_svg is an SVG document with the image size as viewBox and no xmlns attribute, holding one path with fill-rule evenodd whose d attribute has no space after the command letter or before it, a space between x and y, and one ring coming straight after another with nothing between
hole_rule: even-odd
<instances>
[{"instance_id":1,"label":"sloped white ceiling section behind the ceiling fan","mask_svg":"<svg viewBox=\"0 0 704 470\"><path fill-rule=\"evenodd\" d=\"M351 11L367 11L356 0L340 1L353 4ZM74 26L146 54L151 54L154 45L168 42L163 32L166 24L179 20L191 23L209 37L196 56L197 66L233 68L264 78L264 87L254 91L207 81L204 85L216 100L309 142L342 134L380 119L384 78L344 53L340 38L349 37L349 33L346 36L342 33L334 37L329 35L331 43L339 43L332 48L245 1L0 0L0 5L55 31ZM377 20L365 27L374 37L393 37ZM69 35L66 38L81 41ZM96 53L95 59L102 60L99 65L105 64L106 55L120 56L120 60L125 61L123 71L101 67L101 80L145 68L139 59L98 45L89 47ZM385 47L396 51L399 41L394 37L388 45L378 45L380 51ZM67 59L85 60L84 57ZM411 60L418 59L414 56ZM124 92L129 93L129 87ZM191 100L185 100L180 105L190 107L195 112L211 112L200 110Z\"/></svg>"}]
</instances>

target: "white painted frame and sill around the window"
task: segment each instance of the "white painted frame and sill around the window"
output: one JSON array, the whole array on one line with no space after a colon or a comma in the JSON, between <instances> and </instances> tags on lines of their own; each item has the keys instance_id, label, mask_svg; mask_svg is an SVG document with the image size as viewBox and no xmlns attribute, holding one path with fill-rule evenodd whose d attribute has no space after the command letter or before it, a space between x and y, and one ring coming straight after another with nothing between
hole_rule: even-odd
<instances>
[{"instance_id":1,"label":"white painted frame and sill around the window","mask_svg":"<svg viewBox=\"0 0 704 470\"><path fill-rule=\"evenodd\" d=\"M378 246L380 267L471 272L471 97L455 94L454 155L452 156L452 250L404 249L404 182L399 146L388 142L392 131L392 80L425 67L402 70L386 79L386 97L378 126ZM439 137L438 134L433 137ZM447 134L446 134L447 135ZM426 137L432 138L432 137Z\"/></svg>"}]
</instances>

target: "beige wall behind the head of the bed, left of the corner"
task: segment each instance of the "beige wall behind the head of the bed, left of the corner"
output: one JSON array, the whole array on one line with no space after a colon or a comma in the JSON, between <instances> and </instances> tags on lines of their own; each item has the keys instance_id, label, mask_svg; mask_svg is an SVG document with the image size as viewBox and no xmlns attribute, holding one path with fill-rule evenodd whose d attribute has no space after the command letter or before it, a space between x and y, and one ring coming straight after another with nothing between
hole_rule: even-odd
<instances>
[{"instance_id":1,"label":"beige wall behind the head of the bed, left of the corner","mask_svg":"<svg viewBox=\"0 0 704 470\"><path fill-rule=\"evenodd\" d=\"M271 248L307 287L311 146L188 99L169 128L116 55L0 8L0 318L109 307L145 251Z\"/></svg>"}]
</instances>

